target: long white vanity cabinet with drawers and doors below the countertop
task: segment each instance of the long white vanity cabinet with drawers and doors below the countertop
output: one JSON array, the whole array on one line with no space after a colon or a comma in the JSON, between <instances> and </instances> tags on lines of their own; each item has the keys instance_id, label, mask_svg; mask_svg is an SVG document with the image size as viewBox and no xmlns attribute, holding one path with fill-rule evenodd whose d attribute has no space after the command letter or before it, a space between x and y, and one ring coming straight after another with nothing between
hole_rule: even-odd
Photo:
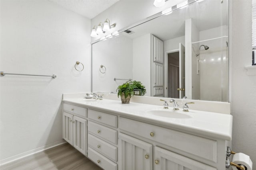
<instances>
[{"instance_id":1,"label":"long white vanity cabinet with drawers and doors below the countertop","mask_svg":"<svg viewBox=\"0 0 256 170\"><path fill-rule=\"evenodd\" d=\"M228 137L177 130L111 109L63 106L63 138L104 170L225 169Z\"/></svg>"}]
</instances>

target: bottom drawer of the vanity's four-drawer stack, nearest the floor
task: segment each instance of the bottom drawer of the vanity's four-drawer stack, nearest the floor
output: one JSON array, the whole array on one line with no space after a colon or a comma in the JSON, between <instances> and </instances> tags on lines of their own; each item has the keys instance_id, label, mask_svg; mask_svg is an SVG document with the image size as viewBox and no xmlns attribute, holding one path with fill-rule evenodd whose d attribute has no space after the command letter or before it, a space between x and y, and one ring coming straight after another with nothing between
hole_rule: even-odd
<instances>
[{"instance_id":1,"label":"bottom drawer of the vanity's four-drawer stack, nearest the floor","mask_svg":"<svg viewBox=\"0 0 256 170\"><path fill-rule=\"evenodd\" d=\"M117 164L90 147L88 147L88 157L104 170L117 170Z\"/></svg>"}]
</instances>

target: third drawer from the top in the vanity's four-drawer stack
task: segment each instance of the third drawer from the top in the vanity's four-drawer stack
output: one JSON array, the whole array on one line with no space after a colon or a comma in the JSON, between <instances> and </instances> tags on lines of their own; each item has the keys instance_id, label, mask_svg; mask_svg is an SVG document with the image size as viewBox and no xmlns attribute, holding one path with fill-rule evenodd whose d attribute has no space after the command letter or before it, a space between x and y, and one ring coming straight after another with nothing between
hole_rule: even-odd
<instances>
[{"instance_id":1,"label":"third drawer from the top in the vanity's four-drawer stack","mask_svg":"<svg viewBox=\"0 0 256 170\"><path fill-rule=\"evenodd\" d=\"M88 145L113 161L117 161L117 147L114 147L91 134L88 134Z\"/></svg>"}]
</instances>

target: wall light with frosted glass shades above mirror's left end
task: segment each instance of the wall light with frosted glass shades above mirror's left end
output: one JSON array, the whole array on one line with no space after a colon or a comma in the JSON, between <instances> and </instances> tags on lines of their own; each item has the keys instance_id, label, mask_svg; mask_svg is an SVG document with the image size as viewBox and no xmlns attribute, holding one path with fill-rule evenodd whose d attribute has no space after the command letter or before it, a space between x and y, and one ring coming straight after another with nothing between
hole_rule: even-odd
<instances>
[{"instance_id":1,"label":"wall light with frosted glass shades above mirror's left end","mask_svg":"<svg viewBox=\"0 0 256 170\"><path fill-rule=\"evenodd\" d=\"M116 23L113 23L112 25L110 25L110 20L106 19L106 21L104 22L104 24L102 22L99 23L99 25L96 27L94 26L92 28L92 33L91 33L91 37L97 37L98 35L102 35L106 32L109 32L111 28L116 27Z\"/></svg>"}]
</instances>

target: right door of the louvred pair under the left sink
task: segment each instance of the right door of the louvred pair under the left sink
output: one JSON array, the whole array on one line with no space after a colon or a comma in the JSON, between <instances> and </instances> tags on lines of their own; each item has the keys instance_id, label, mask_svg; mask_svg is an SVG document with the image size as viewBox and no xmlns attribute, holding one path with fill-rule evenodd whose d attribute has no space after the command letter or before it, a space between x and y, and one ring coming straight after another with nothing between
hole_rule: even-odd
<instances>
[{"instance_id":1,"label":"right door of the louvred pair under the left sink","mask_svg":"<svg viewBox=\"0 0 256 170\"><path fill-rule=\"evenodd\" d=\"M87 120L81 117L74 116L74 147L82 154L86 155L87 146Z\"/></svg>"}]
</instances>

